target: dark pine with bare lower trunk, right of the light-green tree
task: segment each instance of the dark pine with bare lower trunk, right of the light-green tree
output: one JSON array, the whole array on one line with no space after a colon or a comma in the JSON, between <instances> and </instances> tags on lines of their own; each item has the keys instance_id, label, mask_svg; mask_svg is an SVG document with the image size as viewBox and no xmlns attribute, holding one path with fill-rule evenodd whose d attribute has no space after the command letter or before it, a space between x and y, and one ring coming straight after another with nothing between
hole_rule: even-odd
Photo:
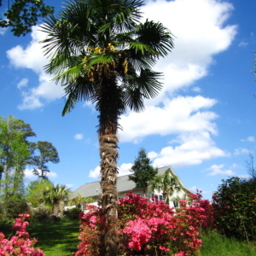
<instances>
[{"instance_id":1,"label":"dark pine with bare lower trunk, right of the light-green tree","mask_svg":"<svg viewBox=\"0 0 256 256\"><path fill-rule=\"evenodd\" d=\"M46 164L48 162L52 162L53 164L60 162L58 151L52 143L48 142L34 143L33 149L39 154L35 154L31 158L30 165L37 166L37 168L34 168L32 172L38 177L47 179L49 167Z\"/></svg>"}]
</instances>

